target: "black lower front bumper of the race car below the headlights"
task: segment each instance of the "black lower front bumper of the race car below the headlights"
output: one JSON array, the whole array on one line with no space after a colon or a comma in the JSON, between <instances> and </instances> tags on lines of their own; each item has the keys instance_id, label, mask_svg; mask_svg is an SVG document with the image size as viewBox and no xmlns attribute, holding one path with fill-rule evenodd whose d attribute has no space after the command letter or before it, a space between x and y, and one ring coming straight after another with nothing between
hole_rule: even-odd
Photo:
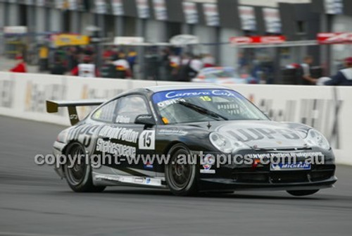
<instances>
[{"instance_id":1,"label":"black lower front bumper of the race car below the headlights","mask_svg":"<svg viewBox=\"0 0 352 236\"><path fill-rule=\"evenodd\" d=\"M324 163L312 163L309 170L272 170L270 164L226 164L213 167L213 173L199 174L200 191L319 190L333 187L337 182L334 154L331 150L310 151L321 151L324 155ZM246 151L242 154L246 154ZM298 161L304 161L304 159L298 159Z\"/></svg>"}]
</instances>

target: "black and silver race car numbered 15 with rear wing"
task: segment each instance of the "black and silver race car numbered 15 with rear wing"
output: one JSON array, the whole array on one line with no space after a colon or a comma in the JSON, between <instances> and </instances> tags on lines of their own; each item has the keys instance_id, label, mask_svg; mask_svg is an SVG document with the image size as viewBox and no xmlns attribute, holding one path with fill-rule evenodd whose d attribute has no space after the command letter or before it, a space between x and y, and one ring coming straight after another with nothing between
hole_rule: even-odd
<instances>
[{"instance_id":1,"label":"black and silver race car numbered 15 with rear wing","mask_svg":"<svg viewBox=\"0 0 352 236\"><path fill-rule=\"evenodd\" d=\"M100 105L100 106L99 106ZM334 154L317 130L279 123L238 92L216 85L134 89L67 106L72 127L54 143L56 172L75 192L106 186L168 188L176 195L332 187ZM76 106L98 106L78 120Z\"/></svg>"}]
</instances>

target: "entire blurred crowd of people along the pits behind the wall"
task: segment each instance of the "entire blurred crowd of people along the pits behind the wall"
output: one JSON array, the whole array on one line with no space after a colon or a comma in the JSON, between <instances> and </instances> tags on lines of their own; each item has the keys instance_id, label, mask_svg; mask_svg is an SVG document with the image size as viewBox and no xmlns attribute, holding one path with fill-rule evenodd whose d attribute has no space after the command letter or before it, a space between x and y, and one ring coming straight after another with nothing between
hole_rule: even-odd
<instances>
[{"instance_id":1,"label":"entire blurred crowd of people along the pits behind the wall","mask_svg":"<svg viewBox=\"0 0 352 236\"><path fill-rule=\"evenodd\" d=\"M40 54L44 54L43 50ZM136 78L137 73L143 75L140 79L169 80L189 82L203 68L215 66L215 58L210 54L194 55L181 53L179 49L164 48L159 50L151 47L144 51L142 66L137 61L137 51L133 48L125 49L109 46L99 53L93 46L71 46L56 49L45 53L39 61L42 71L49 71L53 75L74 75L80 77L107 77L107 78ZM23 56L15 57L16 64L12 72L26 73L26 63ZM263 66L260 63L249 61L239 54L237 70L246 70L253 77L272 73L273 66ZM139 63L137 63L139 62ZM305 56L302 63L291 63L287 68L296 70L296 78L291 84L297 85L352 85L352 57L344 60L344 68L337 75L322 77L313 73L313 56ZM139 68L136 69L136 65ZM45 66L43 66L45 65ZM249 72L251 68L251 72ZM267 76L268 77L268 76ZM268 83L268 79L266 80ZM270 83L270 82L269 82Z\"/></svg>"}]
</instances>

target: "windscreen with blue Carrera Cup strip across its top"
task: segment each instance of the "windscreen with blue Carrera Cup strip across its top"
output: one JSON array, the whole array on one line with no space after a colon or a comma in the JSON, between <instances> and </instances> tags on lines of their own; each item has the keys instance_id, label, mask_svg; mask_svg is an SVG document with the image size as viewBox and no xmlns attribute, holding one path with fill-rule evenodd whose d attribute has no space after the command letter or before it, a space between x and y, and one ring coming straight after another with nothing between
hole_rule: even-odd
<instances>
[{"instance_id":1,"label":"windscreen with blue Carrera Cup strip across its top","mask_svg":"<svg viewBox=\"0 0 352 236\"><path fill-rule=\"evenodd\" d=\"M153 94L165 124L212 120L268 120L241 94L229 89L185 89Z\"/></svg>"}]
</instances>

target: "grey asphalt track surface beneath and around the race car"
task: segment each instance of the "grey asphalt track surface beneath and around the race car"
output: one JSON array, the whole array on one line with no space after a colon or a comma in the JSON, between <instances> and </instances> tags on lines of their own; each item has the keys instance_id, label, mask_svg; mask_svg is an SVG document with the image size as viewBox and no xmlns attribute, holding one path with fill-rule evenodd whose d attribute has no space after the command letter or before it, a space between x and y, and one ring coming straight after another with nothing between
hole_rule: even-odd
<instances>
[{"instance_id":1,"label":"grey asphalt track surface beneath and around the race car","mask_svg":"<svg viewBox=\"0 0 352 236\"><path fill-rule=\"evenodd\" d=\"M336 187L312 197L131 187L77 194L34 163L62 128L0 116L0 235L352 235L352 167L338 166Z\"/></svg>"}]
</instances>

